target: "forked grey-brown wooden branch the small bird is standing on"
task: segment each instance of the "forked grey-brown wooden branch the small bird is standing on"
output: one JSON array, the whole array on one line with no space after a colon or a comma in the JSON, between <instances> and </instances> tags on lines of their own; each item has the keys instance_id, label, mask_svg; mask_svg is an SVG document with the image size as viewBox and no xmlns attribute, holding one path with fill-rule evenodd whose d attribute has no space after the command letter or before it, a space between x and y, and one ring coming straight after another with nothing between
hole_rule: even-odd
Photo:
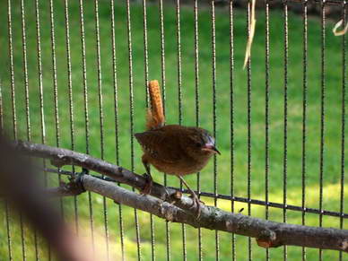
<instances>
[{"instance_id":1,"label":"forked grey-brown wooden branch the small bird is standing on","mask_svg":"<svg viewBox=\"0 0 348 261\"><path fill-rule=\"evenodd\" d=\"M31 156L50 159L56 166L81 166L137 189L142 189L146 182L143 176L83 153L28 142L17 142L16 148ZM270 222L241 213L225 212L208 205L202 206L202 213L199 219L196 219L195 210L189 208L192 204L191 198L182 196L173 188L166 188L155 183L152 188L152 196L141 196L123 187L118 187L113 182L89 175L84 175L81 182L84 189L109 197L118 204L135 207L170 222L187 223L195 228L227 231L256 238L258 246L263 248L290 245L348 252L348 231L346 230ZM69 187L74 186L65 186L65 190Z\"/></svg>"}]
</instances>

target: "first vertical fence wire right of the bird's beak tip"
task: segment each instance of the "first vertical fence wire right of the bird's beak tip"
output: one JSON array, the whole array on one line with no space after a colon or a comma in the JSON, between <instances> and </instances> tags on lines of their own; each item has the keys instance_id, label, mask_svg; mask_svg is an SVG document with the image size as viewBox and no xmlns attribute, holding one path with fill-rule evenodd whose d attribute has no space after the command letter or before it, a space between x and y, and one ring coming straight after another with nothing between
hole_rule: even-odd
<instances>
[{"instance_id":1,"label":"first vertical fence wire right of the bird's beak tip","mask_svg":"<svg viewBox=\"0 0 348 261\"><path fill-rule=\"evenodd\" d=\"M233 1L230 0L230 107L231 107L231 196L234 196L234 41L233 41ZM231 212L234 212L234 201L231 201ZM232 260L236 260L236 236L232 233Z\"/></svg>"}]
</instances>

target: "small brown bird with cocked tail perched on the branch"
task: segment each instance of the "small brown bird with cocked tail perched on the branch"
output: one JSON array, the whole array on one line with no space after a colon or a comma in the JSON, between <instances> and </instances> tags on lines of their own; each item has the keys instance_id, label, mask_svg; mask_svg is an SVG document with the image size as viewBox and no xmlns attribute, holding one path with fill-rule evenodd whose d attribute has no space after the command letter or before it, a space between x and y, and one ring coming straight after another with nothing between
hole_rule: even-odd
<instances>
[{"instance_id":1,"label":"small brown bird with cocked tail perched on the branch","mask_svg":"<svg viewBox=\"0 0 348 261\"><path fill-rule=\"evenodd\" d=\"M176 175L185 184L196 204L197 216L200 214L200 200L187 185L183 175L202 170L214 153L215 140L208 131L200 127L179 125L164 126L161 92L159 83L154 80L148 85L151 110L148 110L144 133L135 134L144 151L142 161L146 169L148 183L142 193L149 194L152 188L150 164L161 172Z\"/></svg>"}]
</instances>

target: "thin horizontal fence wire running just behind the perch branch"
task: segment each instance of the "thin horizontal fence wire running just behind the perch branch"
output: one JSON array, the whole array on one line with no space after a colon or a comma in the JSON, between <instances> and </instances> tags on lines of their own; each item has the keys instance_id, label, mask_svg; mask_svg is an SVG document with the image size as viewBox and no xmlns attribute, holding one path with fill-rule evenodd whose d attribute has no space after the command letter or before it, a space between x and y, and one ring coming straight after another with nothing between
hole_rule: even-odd
<instances>
[{"instance_id":1,"label":"thin horizontal fence wire running just behind the perch branch","mask_svg":"<svg viewBox=\"0 0 348 261\"><path fill-rule=\"evenodd\" d=\"M42 169L42 168L38 168L39 170L42 171L46 171L46 172L50 172L50 173L58 173L58 174L63 174L63 175L68 175L68 176L75 176L78 174L81 174L80 172L71 172L71 171L66 171L66 170L54 170L54 169ZM112 178L108 178L108 177L101 177L101 176L97 176L97 175L91 175L94 178L100 178L106 181L110 181L110 182L116 182L114 179ZM179 189L178 187L168 187L168 188L173 188L176 189L182 193L187 193L189 194L189 191L187 189ZM198 194L198 191L195 191ZM249 203L249 204L258 204L258 205L266 205L268 207L275 207L275 208L282 208L282 209L287 209L287 210L293 210L293 211L300 211L300 212L304 212L304 213L318 213L318 214L322 214L322 215L326 215L326 216L335 216L335 217L342 217L344 219L348 218L348 213L339 213L339 212L335 212L335 211L328 211L328 210L319 210L317 208L311 208L311 207L301 207L298 205L294 205L294 204L281 204L281 203L275 203L275 202L265 202L263 200L259 200L259 199L248 199L246 197L242 197L242 196L228 196L228 195L223 195L223 194L214 194L211 192L199 192L200 196L205 196L205 197L212 197L212 198L218 198L218 199L225 199L225 200L231 200L231 201L237 201L237 202L242 202L242 203Z\"/></svg>"}]
</instances>

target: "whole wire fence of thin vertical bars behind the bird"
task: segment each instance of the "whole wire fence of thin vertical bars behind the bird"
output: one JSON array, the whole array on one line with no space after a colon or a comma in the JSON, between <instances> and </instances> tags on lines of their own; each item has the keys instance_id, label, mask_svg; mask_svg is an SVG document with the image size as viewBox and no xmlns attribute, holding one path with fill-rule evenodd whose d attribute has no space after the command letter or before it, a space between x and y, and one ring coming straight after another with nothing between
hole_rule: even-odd
<instances>
[{"instance_id":1,"label":"whole wire fence of thin vertical bars behind the bird","mask_svg":"<svg viewBox=\"0 0 348 261\"><path fill-rule=\"evenodd\" d=\"M146 84L158 78L167 121L203 125L223 148L222 159L214 157L208 170L196 175L196 190L206 204L274 221L308 224L309 219L311 225L347 228L346 38L333 39L326 28L331 5L342 6L345 24L345 1L279 1L282 10L269 7L275 1L259 1L256 38L264 39L256 39L262 44L252 50L245 71L241 54L249 9L236 8L233 1L3 2L0 119L13 139L65 147L144 171L133 135L144 129ZM321 10L310 23L319 27L316 37L310 35L309 2ZM301 17L289 12L290 3L300 6ZM273 20L283 24L274 28ZM272 39L275 30L281 39ZM290 40L291 30L300 38ZM341 45L335 45L339 54L333 61L327 61L333 52L327 50L326 38L330 45ZM311 51L309 40L318 39ZM300 51L291 51L293 43ZM292 84L295 80L301 84ZM53 169L46 161L43 168L46 186L57 184L50 172L60 173L60 181L64 174L80 171ZM167 176L163 183L178 187ZM254 183L262 183L261 192L253 189ZM282 198L277 198L274 193L280 190ZM103 248L110 260L294 260L292 255L299 255L298 248L263 250L240 236L164 222L90 192L60 199L59 205L76 231L89 233L93 248ZM2 260L53 258L22 217L14 224L17 217L6 204L2 218ZM342 253L300 251L296 257L303 260L344 259Z\"/></svg>"}]
</instances>

